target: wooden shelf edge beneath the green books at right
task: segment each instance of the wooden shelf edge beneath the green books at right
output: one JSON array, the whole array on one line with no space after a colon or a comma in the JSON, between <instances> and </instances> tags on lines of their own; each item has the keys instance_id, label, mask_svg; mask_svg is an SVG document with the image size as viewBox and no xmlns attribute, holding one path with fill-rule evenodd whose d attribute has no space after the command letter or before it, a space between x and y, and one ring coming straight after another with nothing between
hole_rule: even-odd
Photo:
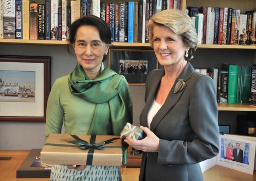
<instances>
[{"instance_id":1,"label":"wooden shelf edge beneath the green books at right","mask_svg":"<svg viewBox=\"0 0 256 181\"><path fill-rule=\"evenodd\" d=\"M218 103L218 110L227 111L256 111L256 106L251 106L250 104L226 104Z\"/></svg>"}]
</instances>

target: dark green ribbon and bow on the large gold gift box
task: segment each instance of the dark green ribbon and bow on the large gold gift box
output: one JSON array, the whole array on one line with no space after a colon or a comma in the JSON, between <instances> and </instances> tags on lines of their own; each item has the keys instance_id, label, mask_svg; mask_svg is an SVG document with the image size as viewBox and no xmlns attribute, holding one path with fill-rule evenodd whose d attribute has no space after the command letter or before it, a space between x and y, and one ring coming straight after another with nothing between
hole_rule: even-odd
<instances>
[{"instance_id":1,"label":"dark green ribbon and bow on the large gold gift box","mask_svg":"<svg viewBox=\"0 0 256 181\"><path fill-rule=\"evenodd\" d=\"M94 149L102 150L105 148L122 148L122 146L106 146L106 144L113 143L115 140L118 140L119 137L114 137L109 140L105 140L99 143L95 143L96 135L92 134L90 137L90 143L88 143L85 140L82 140L77 135L70 134L75 140L67 141L68 143L72 143L75 145L69 145L69 144L55 144L55 143L45 143L45 145L51 145L51 146L68 146L68 147L79 147L82 150L89 149L87 153L87 160L86 165L92 165L92 159L93 159L93 153Z\"/></svg>"}]
</instances>

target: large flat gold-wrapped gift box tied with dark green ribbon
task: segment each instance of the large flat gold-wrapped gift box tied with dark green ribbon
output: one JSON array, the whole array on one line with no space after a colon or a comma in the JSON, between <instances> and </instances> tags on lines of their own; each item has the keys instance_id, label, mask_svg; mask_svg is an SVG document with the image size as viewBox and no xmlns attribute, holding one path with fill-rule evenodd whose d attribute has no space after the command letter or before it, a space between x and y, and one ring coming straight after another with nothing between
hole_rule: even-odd
<instances>
[{"instance_id":1,"label":"large flat gold-wrapped gift box tied with dark green ribbon","mask_svg":"<svg viewBox=\"0 0 256 181\"><path fill-rule=\"evenodd\" d=\"M119 136L50 134L41 151L41 162L51 165L122 165Z\"/></svg>"}]
</instances>

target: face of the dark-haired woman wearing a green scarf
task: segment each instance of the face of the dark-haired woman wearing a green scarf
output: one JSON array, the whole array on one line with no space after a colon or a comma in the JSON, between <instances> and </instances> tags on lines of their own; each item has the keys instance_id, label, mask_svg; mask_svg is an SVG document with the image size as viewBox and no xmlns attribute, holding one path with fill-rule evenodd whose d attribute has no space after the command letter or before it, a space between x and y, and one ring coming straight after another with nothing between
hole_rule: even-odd
<instances>
[{"instance_id":1,"label":"face of the dark-haired woman wearing a green scarf","mask_svg":"<svg viewBox=\"0 0 256 181\"><path fill-rule=\"evenodd\" d=\"M83 67L85 73L100 71L103 55L107 54L109 45L100 39L97 28L91 25L79 27L73 47L77 62Z\"/></svg>"}]
</instances>

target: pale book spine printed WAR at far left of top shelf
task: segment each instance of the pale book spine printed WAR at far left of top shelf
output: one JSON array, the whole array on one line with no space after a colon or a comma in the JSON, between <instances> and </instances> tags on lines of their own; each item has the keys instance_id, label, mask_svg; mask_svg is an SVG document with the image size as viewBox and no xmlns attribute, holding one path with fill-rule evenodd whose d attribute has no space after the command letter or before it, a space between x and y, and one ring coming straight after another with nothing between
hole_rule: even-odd
<instances>
[{"instance_id":1,"label":"pale book spine printed WAR at far left of top shelf","mask_svg":"<svg viewBox=\"0 0 256 181\"><path fill-rule=\"evenodd\" d=\"M3 7L4 38L15 39L15 0L5 0Z\"/></svg>"}]
</instances>

